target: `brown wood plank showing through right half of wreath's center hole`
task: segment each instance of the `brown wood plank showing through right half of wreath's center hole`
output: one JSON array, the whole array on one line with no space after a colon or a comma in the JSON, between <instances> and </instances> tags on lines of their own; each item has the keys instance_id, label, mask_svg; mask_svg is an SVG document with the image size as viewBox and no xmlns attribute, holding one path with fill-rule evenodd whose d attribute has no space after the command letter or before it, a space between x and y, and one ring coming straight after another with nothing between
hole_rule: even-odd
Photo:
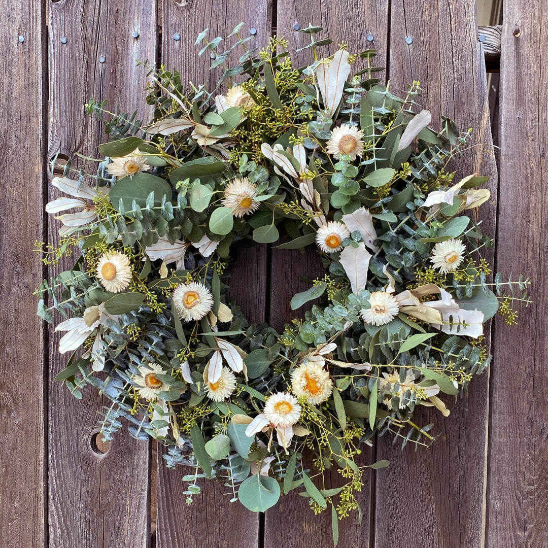
<instances>
[{"instance_id":1,"label":"brown wood plank showing through right half of wreath's center hole","mask_svg":"<svg viewBox=\"0 0 548 548\"><path fill-rule=\"evenodd\" d=\"M357 15L359 18L357 20ZM377 0L371 3L361 2L312 2L310 0L278 2L277 33L285 36L289 41L289 49L301 48L306 45L308 35L295 31L295 25L301 28L312 25L321 26L324 31L318 39L332 38L334 44L320 48L319 55L329 55L335 52L336 44L341 41L349 43L349 51L359 53L364 49L378 48L378 65L383 66L386 60L387 43L387 15L388 3ZM357 30L356 32L356 25ZM373 41L367 39L373 36ZM303 66L312 62L311 50L297 54L292 53L295 66ZM384 72L377 73L384 78ZM305 254L298 250L272 249L271 269L271 300L270 322L277 329L283 329L294 317L302 317L308 307L298 311L290 309L289 301L295 293L310 287L309 283L300 281L300 278L313 279L323 276L324 268L317 253L317 249L309 247ZM363 447L359 464L369 464L373 459L373 452ZM326 478L328 485L339 486L344 481L335 471ZM339 546L369 546L369 514L370 514L370 473L364 471L364 486L359 496L359 504L363 510L363 523L360 526L357 512L340 522ZM297 489L296 492L302 489ZM316 516L310 510L306 499L296 492L283 497L278 506L265 514L265 548L291 545L292 548L328 548L333 546L330 511Z\"/></svg>"}]
</instances>

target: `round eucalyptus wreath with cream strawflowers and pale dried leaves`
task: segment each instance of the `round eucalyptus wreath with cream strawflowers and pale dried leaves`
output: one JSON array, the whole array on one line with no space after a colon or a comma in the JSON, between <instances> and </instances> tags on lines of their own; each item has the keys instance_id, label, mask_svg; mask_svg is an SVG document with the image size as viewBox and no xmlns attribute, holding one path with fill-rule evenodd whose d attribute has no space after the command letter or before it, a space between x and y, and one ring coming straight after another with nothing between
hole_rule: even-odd
<instances>
[{"instance_id":1,"label":"round eucalyptus wreath with cream strawflowers and pale dried leaves","mask_svg":"<svg viewBox=\"0 0 548 548\"><path fill-rule=\"evenodd\" d=\"M68 162L52 180L60 239L38 247L47 264L76 261L42 283L38 314L65 318L56 380L112 401L105 440L122 416L157 439L168 467L193 467L189 502L199 478L252 511L302 488L315 512L332 507L336 539L336 517L358 508L360 447L377 432L430 443L416 407L449 414L442 394L486 369L484 326L496 312L516 323L528 281L488 281L493 239L466 216L489 199L487 178L455 182L471 132L444 117L430 128L419 82L392 94L374 50L318 59L318 27L301 31L315 59L302 68L283 38L256 52L240 28L224 53L221 38L197 39L224 71L213 92L150 70L149 124L89 101L110 142L93 170ZM326 273L291 300L317 304L278 333L227 299L226 272L232 244L273 244L281 227L278 247L315 246ZM326 490L331 466L344 481Z\"/></svg>"}]
</instances>

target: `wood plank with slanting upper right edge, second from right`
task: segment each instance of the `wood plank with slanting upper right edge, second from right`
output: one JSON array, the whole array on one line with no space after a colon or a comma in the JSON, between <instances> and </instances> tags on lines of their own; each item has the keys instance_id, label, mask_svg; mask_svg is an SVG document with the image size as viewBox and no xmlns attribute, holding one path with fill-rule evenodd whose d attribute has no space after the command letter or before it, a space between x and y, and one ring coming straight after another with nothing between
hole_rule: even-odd
<instances>
[{"instance_id":1,"label":"wood plank with slanting upper right edge, second from right","mask_svg":"<svg viewBox=\"0 0 548 548\"><path fill-rule=\"evenodd\" d=\"M483 231L494 237L497 175L475 2L393 1L390 79L396 94L413 80L421 82L420 104L432 112L434 125L444 115L461 129L474 129L475 147L450 169L457 171L456 180L475 172L490 176L492 199L479 216ZM491 259L492 253L486 256ZM447 419L431 410L417 418L419 424L436 424L440 437L430 449L414 453L408 446L399 452L390 436L378 441L376 458L391 461L376 478L378 548L401 544L403 530L396 523L405 523L404 534L421 548L482 545L488 375L473 379L456 402L444 399L451 411Z\"/></svg>"}]
</instances>

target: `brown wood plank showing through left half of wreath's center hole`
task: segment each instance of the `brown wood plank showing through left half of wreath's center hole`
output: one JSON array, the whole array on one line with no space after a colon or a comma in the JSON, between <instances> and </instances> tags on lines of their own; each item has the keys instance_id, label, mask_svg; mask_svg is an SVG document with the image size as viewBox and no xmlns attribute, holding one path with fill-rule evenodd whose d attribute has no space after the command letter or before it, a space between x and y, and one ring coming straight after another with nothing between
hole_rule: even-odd
<instances>
[{"instance_id":1,"label":"brown wood plank showing through left half of wreath's center hole","mask_svg":"<svg viewBox=\"0 0 548 548\"><path fill-rule=\"evenodd\" d=\"M208 54L198 57L199 48L194 45L196 36L205 28L210 29L209 38L226 37L244 19L246 26L242 28L242 37L249 36L251 28L256 30L248 47L263 47L270 37L270 0L238 0L236 3L163 0L162 8L162 63L168 70L180 71L183 83L206 82L209 89L213 89L220 76L220 70L209 71L212 60ZM179 35L179 39L174 39L175 35ZM229 44L234 41L234 37L228 39ZM220 51L225 49L222 42ZM264 321L266 246L233 247L236 259L230 266L230 297L242 307L250 321ZM204 481L202 494L195 496L191 505L186 505L186 495L182 494L185 490L181 482L183 473L186 472L182 469L168 470L159 454L158 548L232 548L236 543L238 548L256 548L259 545L258 514L249 512L239 503L230 504L229 488L220 482Z\"/></svg>"}]
</instances>

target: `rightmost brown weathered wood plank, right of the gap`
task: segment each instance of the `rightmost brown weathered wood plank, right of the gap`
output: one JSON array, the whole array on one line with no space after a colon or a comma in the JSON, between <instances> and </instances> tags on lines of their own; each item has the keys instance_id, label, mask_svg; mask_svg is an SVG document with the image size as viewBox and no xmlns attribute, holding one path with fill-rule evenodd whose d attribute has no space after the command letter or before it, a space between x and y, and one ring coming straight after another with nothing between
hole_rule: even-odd
<instances>
[{"instance_id":1,"label":"rightmost brown weathered wood plank, right of the gap","mask_svg":"<svg viewBox=\"0 0 548 548\"><path fill-rule=\"evenodd\" d=\"M489 548L545 546L548 532L546 13L546 0L504 3L496 266L529 277L534 302L521 307L517 327L495 325Z\"/></svg>"}]
</instances>

